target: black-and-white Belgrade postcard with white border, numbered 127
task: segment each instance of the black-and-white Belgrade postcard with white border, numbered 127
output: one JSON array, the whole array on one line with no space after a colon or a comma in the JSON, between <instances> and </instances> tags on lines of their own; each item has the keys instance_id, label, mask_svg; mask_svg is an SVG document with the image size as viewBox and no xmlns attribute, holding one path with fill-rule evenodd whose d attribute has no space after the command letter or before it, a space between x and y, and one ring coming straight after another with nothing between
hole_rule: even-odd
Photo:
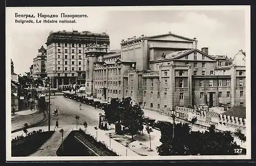
<instances>
[{"instance_id":1,"label":"black-and-white Belgrade postcard with white border, numbered 127","mask_svg":"<svg viewBox=\"0 0 256 166\"><path fill-rule=\"evenodd\" d=\"M251 158L250 6L6 8L7 161Z\"/></svg>"}]
</instances>

